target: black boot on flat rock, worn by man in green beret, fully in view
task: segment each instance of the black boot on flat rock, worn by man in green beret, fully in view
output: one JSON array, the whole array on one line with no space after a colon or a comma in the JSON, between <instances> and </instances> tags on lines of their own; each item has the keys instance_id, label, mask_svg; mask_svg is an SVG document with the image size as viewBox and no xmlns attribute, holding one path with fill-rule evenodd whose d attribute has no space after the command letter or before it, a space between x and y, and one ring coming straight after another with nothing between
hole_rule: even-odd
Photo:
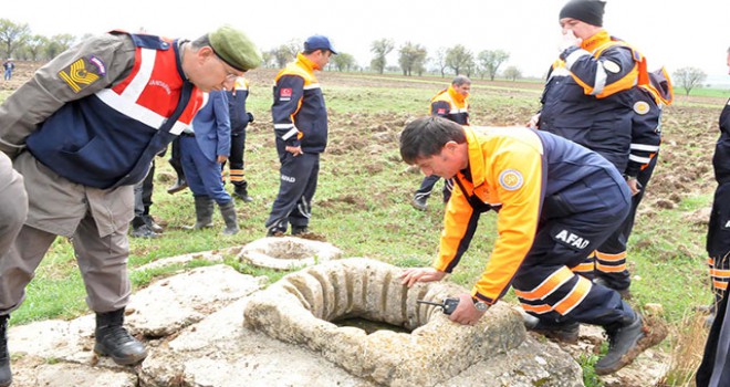
<instances>
[{"instance_id":1,"label":"black boot on flat rock, worn by man in green beret, fully in view","mask_svg":"<svg viewBox=\"0 0 730 387\"><path fill-rule=\"evenodd\" d=\"M96 313L96 345L94 353L109 356L118 365L134 365L147 357L144 344L134 338L124 324L124 307L107 313Z\"/></svg>"}]
</instances>

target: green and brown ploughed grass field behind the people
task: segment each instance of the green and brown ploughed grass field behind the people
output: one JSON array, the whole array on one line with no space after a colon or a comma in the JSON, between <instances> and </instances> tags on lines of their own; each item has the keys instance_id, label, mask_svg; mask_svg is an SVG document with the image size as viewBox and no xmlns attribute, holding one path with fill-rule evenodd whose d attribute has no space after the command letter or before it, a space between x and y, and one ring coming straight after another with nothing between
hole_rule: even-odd
<instances>
[{"instance_id":1,"label":"green and brown ploughed grass field behind the people","mask_svg":"<svg viewBox=\"0 0 730 387\"><path fill-rule=\"evenodd\" d=\"M182 226L195 222L192 197L188 191L174 196L165 191L173 180L171 168L158 158L152 213L166 230L159 239L131 240L133 271L160 258L242 245L265 234L263 222L279 187L270 117L274 75L274 71L265 69L250 73L248 106L257 121L248 129L246 171L255 200L237 202L241 232L222 237L219 232L223 224L218 213L212 230L184 230ZM449 81L434 76L320 75L331 132L327 151L322 156L312 231L326 236L347 257L369 257L401 266L430 263L441 229L440 194L431 197L425 212L409 206L423 176L400 160L397 140L405 123L427 114L429 98ZM534 82L474 80L471 122L489 126L524 124L539 108L541 90L542 84ZM632 303L638 307L646 303L664 306L664 318L672 327L672 336L663 347L667 352L688 337L703 339L701 334L698 338L697 333L688 332L691 324L687 322L699 318L693 307L711 300L703 251L707 219L702 211L710 206L715 189L711 156L718 134L717 119L729 95L728 91L717 91L685 97L677 91L676 103L665 111L659 164L629 241L628 260L634 274ZM232 190L230 185L227 188ZM494 220L494 213L482 217L478 234L450 281L470 287L478 279L492 248ZM227 263L244 273L268 275L272 281L283 275L238 263L233 257L228 257ZM132 279L140 287L179 269L134 271ZM71 318L88 313L84 296L71 243L59 238L11 323ZM511 292L505 300L514 302ZM684 385L686 378L672 383Z\"/></svg>"}]
</instances>

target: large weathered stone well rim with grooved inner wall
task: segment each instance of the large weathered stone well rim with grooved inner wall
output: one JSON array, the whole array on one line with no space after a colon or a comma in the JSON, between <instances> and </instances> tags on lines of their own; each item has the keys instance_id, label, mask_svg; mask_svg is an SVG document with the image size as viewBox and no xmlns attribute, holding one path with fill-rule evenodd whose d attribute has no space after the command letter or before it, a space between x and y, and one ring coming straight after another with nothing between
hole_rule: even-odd
<instances>
[{"instance_id":1,"label":"large weathered stone well rim with grooved inner wall","mask_svg":"<svg viewBox=\"0 0 730 387\"><path fill-rule=\"evenodd\" d=\"M289 274L254 294L244 324L305 345L353 375L389 386L435 385L524 341L522 318L509 306L493 306L476 326L455 324L440 310L416 300L441 302L466 290L445 283L418 283L408 289L400 284L400 272L368 259L325 262ZM413 332L380 330L367 335L330 322L343 317L363 317Z\"/></svg>"}]
</instances>

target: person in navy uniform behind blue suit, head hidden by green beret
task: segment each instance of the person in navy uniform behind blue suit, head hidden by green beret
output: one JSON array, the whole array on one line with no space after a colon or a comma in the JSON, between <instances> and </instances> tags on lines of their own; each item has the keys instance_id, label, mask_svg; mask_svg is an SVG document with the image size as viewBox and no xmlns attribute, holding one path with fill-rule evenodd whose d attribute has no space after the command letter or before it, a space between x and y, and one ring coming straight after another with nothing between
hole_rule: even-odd
<instances>
[{"instance_id":1,"label":"person in navy uniform behind blue suit, head hidden by green beret","mask_svg":"<svg viewBox=\"0 0 730 387\"><path fill-rule=\"evenodd\" d=\"M249 182L246 181L243 156L246 153L246 127L253 122L253 114L246 111L246 100L249 97L249 80L241 76L236 80L236 86L226 91L228 96L228 113L231 121L231 149L228 158L229 178L233 184L233 196L251 202ZM226 165L223 164L223 168Z\"/></svg>"}]
</instances>

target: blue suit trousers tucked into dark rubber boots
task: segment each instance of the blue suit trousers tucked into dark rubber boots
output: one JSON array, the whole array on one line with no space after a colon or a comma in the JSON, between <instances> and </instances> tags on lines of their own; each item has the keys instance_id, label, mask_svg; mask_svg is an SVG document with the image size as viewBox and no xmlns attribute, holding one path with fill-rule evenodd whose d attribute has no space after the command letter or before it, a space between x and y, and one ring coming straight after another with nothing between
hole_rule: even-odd
<instances>
[{"instance_id":1,"label":"blue suit trousers tucked into dark rubber boots","mask_svg":"<svg viewBox=\"0 0 730 387\"><path fill-rule=\"evenodd\" d=\"M220 164L202 154L195 137L180 136L180 161L194 196L207 196L218 205L233 200L220 179Z\"/></svg>"}]
</instances>

